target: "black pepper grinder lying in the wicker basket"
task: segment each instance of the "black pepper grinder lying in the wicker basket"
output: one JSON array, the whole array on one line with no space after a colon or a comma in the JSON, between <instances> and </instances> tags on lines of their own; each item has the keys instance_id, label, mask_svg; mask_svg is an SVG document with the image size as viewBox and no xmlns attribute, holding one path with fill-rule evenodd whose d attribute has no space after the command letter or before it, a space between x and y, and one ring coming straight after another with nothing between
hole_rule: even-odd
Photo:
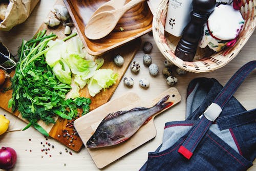
<instances>
[{"instance_id":1,"label":"black pepper grinder lying in the wicker basket","mask_svg":"<svg viewBox=\"0 0 256 171\"><path fill-rule=\"evenodd\" d=\"M175 55L184 61L192 61L203 35L203 26L216 6L216 0L193 0L190 22L183 30Z\"/></svg>"}]
</instances>

